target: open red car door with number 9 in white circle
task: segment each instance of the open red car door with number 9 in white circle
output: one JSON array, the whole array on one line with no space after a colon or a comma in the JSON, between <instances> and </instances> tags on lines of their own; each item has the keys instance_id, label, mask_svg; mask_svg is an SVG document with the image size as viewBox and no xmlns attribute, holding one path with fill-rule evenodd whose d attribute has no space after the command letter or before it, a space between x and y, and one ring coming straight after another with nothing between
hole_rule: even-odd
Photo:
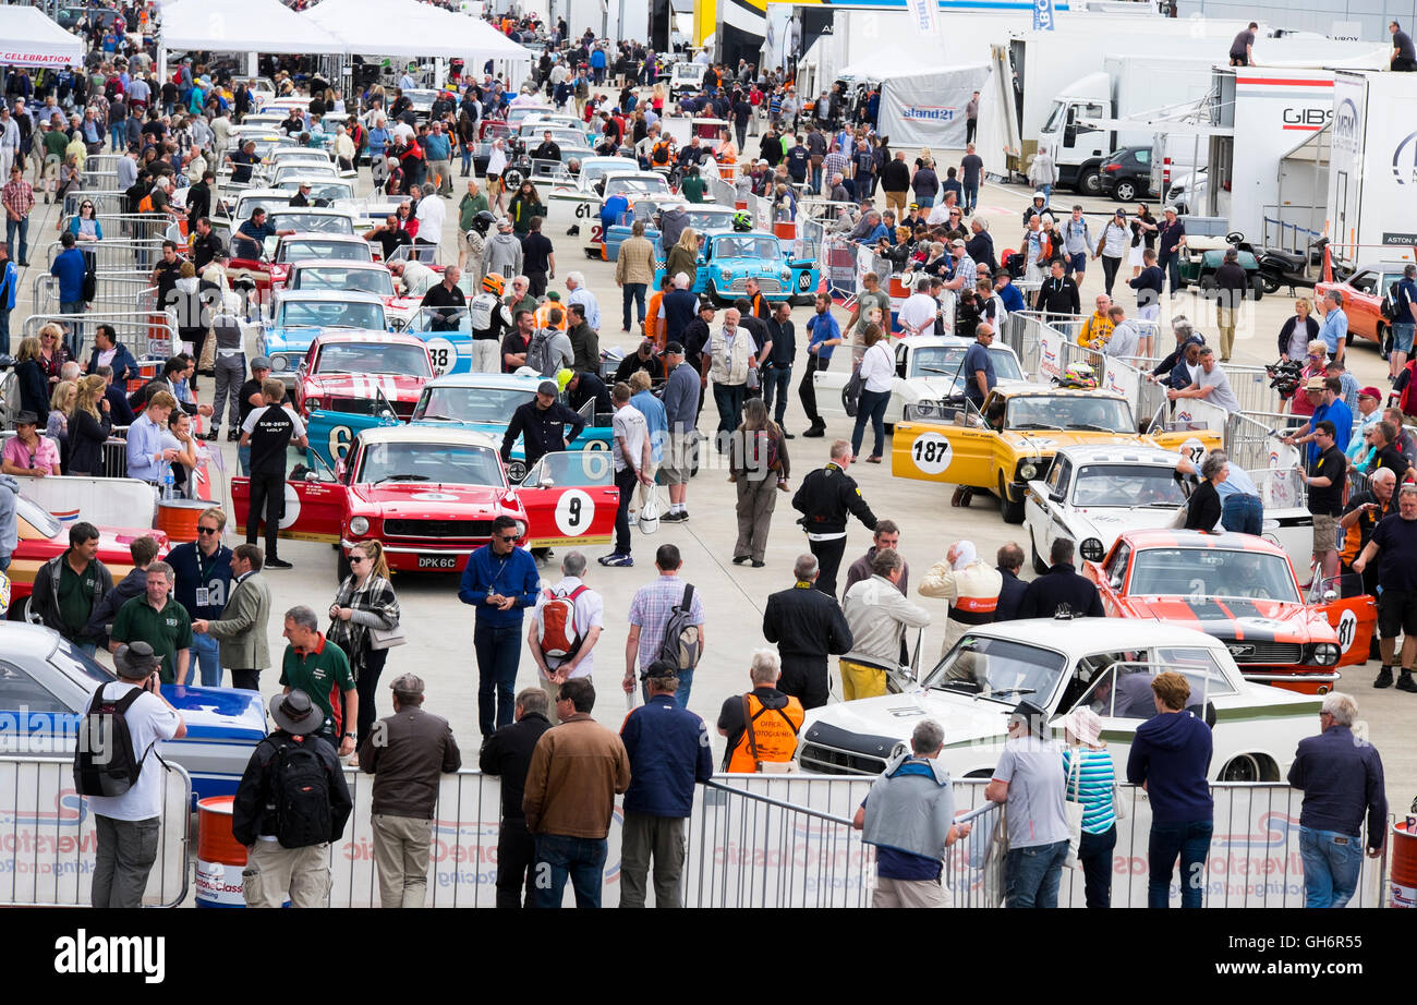
<instances>
[{"instance_id":1,"label":"open red car door with number 9 in white circle","mask_svg":"<svg viewBox=\"0 0 1417 1005\"><path fill-rule=\"evenodd\" d=\"M561 451L531 465L517 488L527 547L609 543L619 507L614 468L608 451Z\"/></svg>"}]
</instances>

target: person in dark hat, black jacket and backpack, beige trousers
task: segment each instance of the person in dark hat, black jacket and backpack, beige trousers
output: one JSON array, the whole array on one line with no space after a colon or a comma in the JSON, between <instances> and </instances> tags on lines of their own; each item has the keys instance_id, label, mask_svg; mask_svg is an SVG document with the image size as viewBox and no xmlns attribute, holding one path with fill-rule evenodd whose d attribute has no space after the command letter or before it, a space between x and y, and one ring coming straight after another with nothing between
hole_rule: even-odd
<instances>
[{"instance_id":1,"label":"person in dark hat, black jacket and backpack, beige trousers","mask_svg":"<svg viewBox=\"0 0 1417 1005\"><path fill-rule=\"evenodd\" d=\"M247 907L324 907L330 842L354 809L324 710L303 690L271 699L276 730L256 744L231 805L231 833L247 846Z\"/></svg>"}]
</instances>

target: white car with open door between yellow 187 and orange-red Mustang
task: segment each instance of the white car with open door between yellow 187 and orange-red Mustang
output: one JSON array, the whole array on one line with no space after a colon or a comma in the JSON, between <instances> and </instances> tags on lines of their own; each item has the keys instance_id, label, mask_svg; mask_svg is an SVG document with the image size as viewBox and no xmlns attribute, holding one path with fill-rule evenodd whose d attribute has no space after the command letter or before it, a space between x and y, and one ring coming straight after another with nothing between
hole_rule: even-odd
<instances>
[{"instance_id":1,"label":"white car with open door between yellow 187 and orange-red Mustang","mask_svg":"<svg viewBox=\"0 0 1417 1005\"><path fill-rule=\"evenodd\" d=\"M1197 465L1204 456L1199 439L1183 449ZM1071 540L1081 558L1101 561L1128 530L1173 526L1176 510L1195 485L1193 478L1176 473L1180 459L1180 454L1144 445L1060 448L1047 472L1029 482L1023 498L1033 568L1047 571L1049 553L1060 537ZM1314 517L1304 505L1274 505L1295 499L1302 503L1295 472L1250 473L1265 502L1261 536L1284 549L1295 568L1308 568Z\"/></svg>"}]
</instances>

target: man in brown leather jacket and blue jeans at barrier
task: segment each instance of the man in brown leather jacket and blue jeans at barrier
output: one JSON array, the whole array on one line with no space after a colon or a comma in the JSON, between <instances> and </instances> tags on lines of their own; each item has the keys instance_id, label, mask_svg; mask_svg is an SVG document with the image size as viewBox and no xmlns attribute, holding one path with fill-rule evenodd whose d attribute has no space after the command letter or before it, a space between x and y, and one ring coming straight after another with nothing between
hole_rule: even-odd
<instances>
[{"instance_id":1,"label":"man in brown leather jacket and blue jeans at barrier","mask_svg":"<svg viewBox=\"0 0 1417 1005\"><path fill-rule=\"evenodd\" d=\"M619 736L591 719L595 686L589 678L561 685L555 703L561 724L537 740L527 768L527 829L536 835L536 906L560 907L565 880L577 907L601 906L605 838L615 795L629 788L629 754Z\"/></svg>"}]
</instances>

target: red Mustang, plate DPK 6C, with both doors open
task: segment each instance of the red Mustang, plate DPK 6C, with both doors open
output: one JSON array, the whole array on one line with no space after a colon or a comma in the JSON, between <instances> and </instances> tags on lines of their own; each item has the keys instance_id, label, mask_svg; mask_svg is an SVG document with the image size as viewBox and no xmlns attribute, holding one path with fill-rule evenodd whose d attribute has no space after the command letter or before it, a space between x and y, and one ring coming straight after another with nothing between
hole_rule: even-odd
<instances>
[{"instance_id":1,"label":"red Mustang, plate DPK 6C, with both doors open","mask_svg":"<svg viewBox=\"0 0 1417 1005\"><path fill-rule=\"evenodd\" d=\"M529 549L611 540L619 492L606 451L565 451L538 459L521 485L507 482L500 439L485 432L421 425L361 429L330 471L296 469L285 486L281 537L339 544L339 576L349 550L377 539L395 571L461 573L468 554L510 516ZM234 478L238 526L249 512L249 479Z\"/></svg>"}]
</instances>

